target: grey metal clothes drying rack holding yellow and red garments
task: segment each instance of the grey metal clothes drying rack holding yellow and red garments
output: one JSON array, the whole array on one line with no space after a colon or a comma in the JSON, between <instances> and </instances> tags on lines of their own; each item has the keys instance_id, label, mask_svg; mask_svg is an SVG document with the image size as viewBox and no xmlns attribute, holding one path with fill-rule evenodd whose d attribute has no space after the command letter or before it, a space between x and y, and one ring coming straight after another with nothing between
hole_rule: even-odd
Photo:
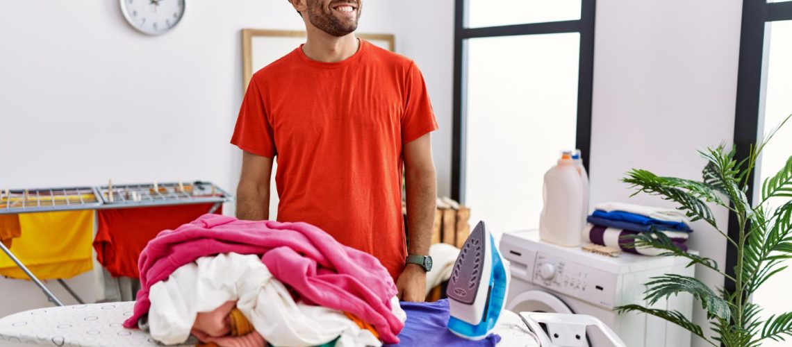
<instances>
[{"instance_id":1,"label":"grey metal clothes drying rack holding yellow and red garments","mask_svg":"<svg viewBox=\"0 0 792 347\"><path fill-rule=\"evenodd\" d=\"M108 183L103 187L62 187L16 189L0 191L0 215L18 213L44 213L82 209L124 209L134 207L174 206L212 203L208 213L214 213L223 202L234 197L212 183L140 183L118 186ZM23 264L13 252L0 243L0 249L35 283L47 299L58 306L63 302ZM85 304L77 293L58 279L60 285L80 304Z\"/></svg>"}]
</instances>

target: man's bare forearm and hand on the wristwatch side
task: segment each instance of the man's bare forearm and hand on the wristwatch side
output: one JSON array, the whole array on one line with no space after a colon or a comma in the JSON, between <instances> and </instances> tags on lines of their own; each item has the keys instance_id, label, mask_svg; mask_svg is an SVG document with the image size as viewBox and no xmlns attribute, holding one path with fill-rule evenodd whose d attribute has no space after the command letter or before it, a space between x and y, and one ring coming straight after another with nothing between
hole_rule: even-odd
<instances>
[{"instance_id":1,"label":"man's bare forearm and hand on the wristwatch side","mask_svg":"<svg viewBox=\"0 0 792 347\"><path fill-rule=\"evenodd\" d=\"M407 190L407 230L409 254L429 255L434 224L437 179L432 161L432 141L425 134L404 148L405 179ZM417 264L407 264L396 283L402 300L424 301L426 273Z\"/></svg>"}]
</instances>

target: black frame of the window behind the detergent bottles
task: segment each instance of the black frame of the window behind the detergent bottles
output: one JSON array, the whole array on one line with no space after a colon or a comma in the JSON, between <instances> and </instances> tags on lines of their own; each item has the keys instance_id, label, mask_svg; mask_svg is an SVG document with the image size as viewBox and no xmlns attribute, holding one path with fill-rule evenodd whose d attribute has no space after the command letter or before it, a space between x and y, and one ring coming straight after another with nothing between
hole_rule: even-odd
<instances>
[{"instance_id":1,"label":"black frame of the window behind the detergent bottles","mask_svg":"<svg viewBox=\"0 0 792 347\"><path fill-rule=\"evenodd\" d=\"M451 144L451 198L465 202L466 172L466 47L465 41L481 37L520 36L579 32L580 57L577 81L577 134L575 145L581 149L588 169L591 147L592 83L594 76L594 17L596 0L581 0L581 18L522 25L466 28L467 2L455 0L454 14L454 107ZM505 9L508 10L508 9Z\"/></svg>"}]
</instances>

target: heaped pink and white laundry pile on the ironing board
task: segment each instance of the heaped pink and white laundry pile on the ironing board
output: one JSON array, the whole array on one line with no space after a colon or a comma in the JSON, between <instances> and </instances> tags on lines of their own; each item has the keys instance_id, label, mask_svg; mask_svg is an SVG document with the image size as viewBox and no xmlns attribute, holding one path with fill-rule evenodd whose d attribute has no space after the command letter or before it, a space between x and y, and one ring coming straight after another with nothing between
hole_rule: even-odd
<instances>
[{"instance_id":1,"label":"heaped pink and white laundry pile on the ironing board","mask_svg":"<svg viewBox=\"0 0 792 347\"><path fill-rule=\"evenodd\" d=\"M163 344L398 343L406 313L387 270L306 223L207 214L161 232L139 260L142 289L124 322Z\"/></svg>"}]
</instances>

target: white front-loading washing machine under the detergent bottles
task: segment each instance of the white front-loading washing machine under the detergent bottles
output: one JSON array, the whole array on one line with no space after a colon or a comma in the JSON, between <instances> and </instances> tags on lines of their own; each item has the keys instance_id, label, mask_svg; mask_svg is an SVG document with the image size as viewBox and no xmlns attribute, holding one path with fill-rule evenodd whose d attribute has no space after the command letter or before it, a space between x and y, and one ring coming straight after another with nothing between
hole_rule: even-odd
<instances>
[{"instance_id":1,"label":"white front-loading washing machine under the detergent bottles","mask_svg":"<svg viewBox=\"0 0 792 347\"><path fill-rule=\"evenodd\" d=\"M501 253L510 262L512 281L506 308L593 315L611 327L630 347L689 347L691 333L653 316L625 313L613 308L642 304L650 277L664 273L693 276L683 258L649 257L622 253L618 258L595 255L581 247L560 247L539 240L538 230L507 232L501 237ZM653 308L680 311L691 319L693 298L672 296ZM599 330L589 330L588 345L610 346Z\"/></svg>"}]
</instances>

